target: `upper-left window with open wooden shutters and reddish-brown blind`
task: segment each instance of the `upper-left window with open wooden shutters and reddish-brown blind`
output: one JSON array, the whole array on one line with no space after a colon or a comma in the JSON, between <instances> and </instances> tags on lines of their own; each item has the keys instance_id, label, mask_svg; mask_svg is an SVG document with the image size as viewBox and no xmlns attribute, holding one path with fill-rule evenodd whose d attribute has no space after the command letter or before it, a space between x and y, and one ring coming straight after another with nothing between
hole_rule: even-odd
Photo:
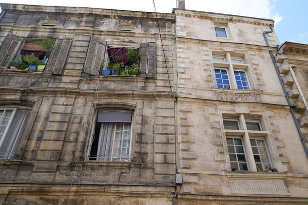
<instances>
[{"instance_id":1,"label":"upper-left window with open wooden shutters and reddish-brown blind","mask_svg":"<svg viewBox=\"0 0 308 205\"><path fill-rule=\"evenodd\" d=\"M5 71L13 60L22 62L23 56L33 53L42 64L46 65L44 73L61 75L64 71L72 38L53 39L50 50L41 46L44 39L53 38L7 36L0 47L0 72Z\"/></svg>"}]
</instances>

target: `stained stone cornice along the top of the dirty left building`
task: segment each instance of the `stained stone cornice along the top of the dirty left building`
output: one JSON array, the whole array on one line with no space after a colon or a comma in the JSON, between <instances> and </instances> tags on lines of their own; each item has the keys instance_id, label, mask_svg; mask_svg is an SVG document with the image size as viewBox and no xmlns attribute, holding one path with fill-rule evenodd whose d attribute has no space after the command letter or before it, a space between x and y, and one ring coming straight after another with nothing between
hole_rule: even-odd
<instances>
[{"instance_id":1,"label":"stained stone cornice along the top of the dirty left building","mask_svg":"<svg viewBox=\"0 0 308 205\"><path fill-rule=\"evenodd\" d=\"M96 14L110 17L122 16L133 18L156 18L156 14L152 12L140 11L124 11L99 8L84 8L84 7L60 7L60 6L34 6L23 4L0 4L2 10L15 10L23 12L50 12L50 13L66 13L66 14ZM164 21L175 20L175 14L157 13L158 18Z\"/></svg>"}]
</instances>

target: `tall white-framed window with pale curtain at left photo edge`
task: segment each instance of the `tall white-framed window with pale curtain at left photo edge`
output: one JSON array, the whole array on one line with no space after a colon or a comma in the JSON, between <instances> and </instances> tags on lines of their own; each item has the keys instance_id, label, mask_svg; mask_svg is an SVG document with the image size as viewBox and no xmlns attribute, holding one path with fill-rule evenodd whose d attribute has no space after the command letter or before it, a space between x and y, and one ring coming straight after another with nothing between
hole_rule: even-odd
<instances>
[{"instance_id":1,"label":"tall white-framed window with pale curtain at left photo edge","mask_svg":"<svg viewBox=\"0 0 308 205\"><path fill-rule=\"evenodd\" d=\"M0 159L13 159L29 115L26 108L0 108Z\"/></svg>"}]
</instances>

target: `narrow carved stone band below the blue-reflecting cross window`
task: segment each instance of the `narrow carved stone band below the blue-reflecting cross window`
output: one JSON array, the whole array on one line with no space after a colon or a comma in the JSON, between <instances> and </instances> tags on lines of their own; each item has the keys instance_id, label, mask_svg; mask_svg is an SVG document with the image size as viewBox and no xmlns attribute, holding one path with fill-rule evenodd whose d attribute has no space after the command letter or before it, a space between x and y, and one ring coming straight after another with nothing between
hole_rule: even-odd
<instances>
[{"instance_id":1,"label":"narrow carved stone band below the blue-reflecting cross window","mask_svg":"<svg viewBox=\"0 0 308 205\"><path fill-rule=\"evenodd\" d=\"M237 102L256 102L261 103L261 95L256 94L227 94L216 93L216 99L225 101L237 101Z\"/></svg>"}]
</instances>

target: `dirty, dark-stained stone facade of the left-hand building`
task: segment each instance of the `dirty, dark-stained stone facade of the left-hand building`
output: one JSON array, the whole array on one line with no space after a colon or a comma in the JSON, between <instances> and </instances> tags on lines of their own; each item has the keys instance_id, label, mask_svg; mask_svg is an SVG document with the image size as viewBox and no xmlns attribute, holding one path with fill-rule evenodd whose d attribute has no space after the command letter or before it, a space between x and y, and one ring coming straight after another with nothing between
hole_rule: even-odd
<instances>
[{"instance_id":1,"label":"dirty, dark-stained stone facade of the left-hand building","mask_svg":"<svg viewBox=\"0 0 308 205\"><path fill-rule=\"evenodd\" d=\"M1 8L1 42L13 36L12 44L21 47L19 39L46 36L67 44L59 48L66 60L56 59L64 65L57 67L57 74L48 65L43 73L12 72L1 65L0 106L31 111L13 160L0 160L0 204L171 204L176 174L174 14L158 14L167 72L153 13L11 4ZM49 21L59 24L40 26ZM85 73L92 36L108 46L156 43L155 77ZM95 116L104 109L133 113L130 162L87 160Z\"/></svg>"}]
</instances>

